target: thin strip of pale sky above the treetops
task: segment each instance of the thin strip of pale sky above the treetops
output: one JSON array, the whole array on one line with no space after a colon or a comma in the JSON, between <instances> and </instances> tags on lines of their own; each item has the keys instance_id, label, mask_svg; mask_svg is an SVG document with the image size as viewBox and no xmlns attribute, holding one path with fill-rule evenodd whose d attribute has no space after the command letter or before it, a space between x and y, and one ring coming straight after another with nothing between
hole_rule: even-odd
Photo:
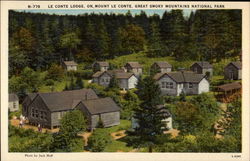
<instances>
[{"instance_id":1,"label":"thin strip of pale sky above the treetops","mask_svg":"<svg viewBox=\"0 0 250 161\"><path fill-rule=\"evenodd\" d=\"M64 9L43 9L43 10L18 10L18 11L25 11L25 12L31 12L31 13L47 13L47 14L57 14L57 15L79 15L79 14L85 14L85 13L122 13L125 14L128 12L128 10L123 9L100 9L100 10L85 10L85 9L79 9L79 10L64 10ZM153 10L153 9L144 9L143 11L146 12L147 15L153 15L158 14L159 16L162 16L163 13L166 11L166 9L163 10ZM167 11L170 11L167 9ZM183 13L185 17L188 17L191 13L191 9L183 9ZM194 11L194 10L193 10ZM132 9L130 10L132 15L140 14L141 9Z\"/></svg>"}]
</instances>

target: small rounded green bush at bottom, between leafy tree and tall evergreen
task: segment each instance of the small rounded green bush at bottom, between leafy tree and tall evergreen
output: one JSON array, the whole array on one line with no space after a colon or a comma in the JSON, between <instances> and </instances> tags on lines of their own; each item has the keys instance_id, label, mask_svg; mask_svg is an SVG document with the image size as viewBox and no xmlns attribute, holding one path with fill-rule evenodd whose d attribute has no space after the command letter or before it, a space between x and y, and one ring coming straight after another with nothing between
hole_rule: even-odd
<instances>
[{"instance_id":1,"label":"small rounded green bush at bottom, between leafy tree and tall evergreen","mask_svg":"<svg viewBox=\"0 0 250 161\"><path fill-rule=\"evenodd\" d=\"M111 142L112 138L105 129L96 129L88 139L88 150L102 152Z\"/></svg>"}]
</instances>

